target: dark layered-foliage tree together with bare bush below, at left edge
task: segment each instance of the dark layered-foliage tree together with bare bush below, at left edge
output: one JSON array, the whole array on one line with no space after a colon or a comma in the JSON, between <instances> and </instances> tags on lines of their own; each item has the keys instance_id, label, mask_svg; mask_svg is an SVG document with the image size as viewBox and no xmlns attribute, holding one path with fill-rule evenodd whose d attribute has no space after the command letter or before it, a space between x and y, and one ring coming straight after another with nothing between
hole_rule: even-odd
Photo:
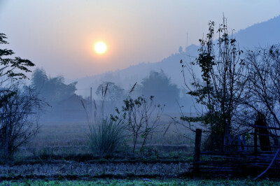
<instances>
[{"instance_id":1,"label":"dark layered-foliage tree together with bare bush below, at left edge","mask_svg":"<svg viewBox=\"0 0 280 186\"><path fill-rule=\"evenodd\" d=\"M8 45L6 34L0 33L0 45ZM0 157L13 155L20 145L38 131L38 120L31 121L30 114L43 106L33 90L22 89L25 73L34 66L28 59L13 57L13 50L0 48Z\"/></svg>"}]
</instances>

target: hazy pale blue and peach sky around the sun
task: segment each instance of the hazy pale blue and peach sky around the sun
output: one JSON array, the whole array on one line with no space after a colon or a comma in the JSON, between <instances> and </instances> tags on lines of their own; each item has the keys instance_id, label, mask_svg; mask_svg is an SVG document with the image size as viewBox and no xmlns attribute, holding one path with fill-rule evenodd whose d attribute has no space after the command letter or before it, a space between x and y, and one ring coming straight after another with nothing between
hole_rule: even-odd
<instances>
[{"instance_id":1,"label":"hazy pale blue and peach sky around the sun","mask_svg":"<svg viewBox=\"0 0 280 186\"><path fill-rule=\"evenodd\" d=\"M198 43L209 20L245 29L280 14L280 0L0 0L0 33L51 76L80 78L158 62ZM108 50L97 55L93 45Z\"/></svg>"}]
</instances>

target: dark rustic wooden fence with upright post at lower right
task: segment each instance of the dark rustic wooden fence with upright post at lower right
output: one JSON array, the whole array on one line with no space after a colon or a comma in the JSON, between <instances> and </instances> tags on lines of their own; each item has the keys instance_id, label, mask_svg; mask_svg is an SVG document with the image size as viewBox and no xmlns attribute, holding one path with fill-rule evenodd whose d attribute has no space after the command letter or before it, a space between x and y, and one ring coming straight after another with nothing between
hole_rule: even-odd
<instances>
[{"instance_id":1,"label":"dark rustic wooden fence with upright post at lower right","mask_svg":"<svg viewBox=\"0 0 280 186\"><path fill-rule=\"evenodd\" d=\"M227 136L223 152L201 151L202 129L196 129L193 172L232 175L248 173L258 175L256 178L266 172L279 174L280 136L277 134L280 128L260 125L250 127L252 130L247 134L251 140L245 135Z\"/></svg>"}]
</instances>

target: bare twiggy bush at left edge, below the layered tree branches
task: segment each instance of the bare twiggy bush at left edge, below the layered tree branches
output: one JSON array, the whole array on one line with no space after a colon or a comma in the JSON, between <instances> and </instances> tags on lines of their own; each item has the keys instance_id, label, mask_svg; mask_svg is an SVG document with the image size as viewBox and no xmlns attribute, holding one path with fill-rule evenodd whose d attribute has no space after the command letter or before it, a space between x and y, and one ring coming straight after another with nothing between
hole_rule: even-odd
<instances>
[{"instance_id":1,"label":"bare twiggy bush at left edge, below the layered tree branches","mask_svg":"<svg viewBox=\"0 0 280 186\"><path fill-rule=\"evenodd\" d=\"M18 85L0 90L0 98L0 151L10 157L38 131L38 117L45 103L34 90Z\"/></svg>"}]
</instances>

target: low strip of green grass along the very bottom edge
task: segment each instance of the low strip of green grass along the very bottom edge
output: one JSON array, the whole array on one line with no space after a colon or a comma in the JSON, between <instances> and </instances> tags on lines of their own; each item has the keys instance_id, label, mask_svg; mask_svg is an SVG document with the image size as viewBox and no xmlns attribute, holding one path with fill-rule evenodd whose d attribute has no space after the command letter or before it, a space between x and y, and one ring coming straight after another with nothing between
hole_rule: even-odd
<instances>
[{"instance_id":1,"label":"low strip of green grass along the very bottom edge","mask_svg":"<svg viewBox=\"0 0 280 186\"><path fill-rule=\"evenodd\" d=\"M22 180L1 185L280 185L279 180L191 180L191 179L94 179L94 180Z\"/></svg>"}]
</instances>

